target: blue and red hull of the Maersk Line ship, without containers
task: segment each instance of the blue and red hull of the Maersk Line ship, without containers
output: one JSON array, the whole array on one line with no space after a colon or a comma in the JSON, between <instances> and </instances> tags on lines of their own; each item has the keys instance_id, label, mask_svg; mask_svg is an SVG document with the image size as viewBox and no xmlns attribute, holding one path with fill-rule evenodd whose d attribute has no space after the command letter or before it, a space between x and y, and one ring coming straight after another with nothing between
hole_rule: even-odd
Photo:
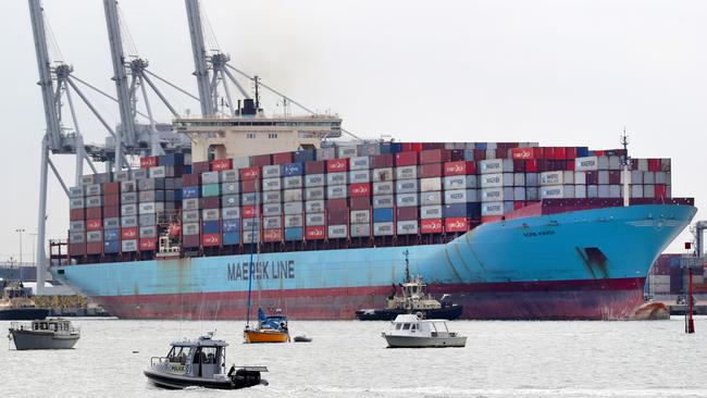
<instances>
[{"instance_id":1,"label":"blue and red hull of the Maersk Line ship, without containers","mask_svg":"<svg viewBox=\"0 0 707 398\"><path fill-rule=\"evenodd\" d=\"M131 319L245 319L248 282L292 319L354 319L402 281L402 252L467 319L629 319L691 206L604 208L486 223L446 245L67 265L55 277ZM253 258L253 262L256 259Z\"/></svg>"}]
</instances>

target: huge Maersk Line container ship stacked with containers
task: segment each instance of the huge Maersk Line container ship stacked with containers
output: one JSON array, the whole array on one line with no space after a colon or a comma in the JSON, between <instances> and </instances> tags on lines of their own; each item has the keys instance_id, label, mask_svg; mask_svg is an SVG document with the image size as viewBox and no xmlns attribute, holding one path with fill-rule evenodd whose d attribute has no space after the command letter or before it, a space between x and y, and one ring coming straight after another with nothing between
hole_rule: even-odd
<instances>
[{"instance_id":1,"label":"huge Maersk Line container ship stacked with containers","mask_svg":"<svg viewBox=\"0 0 707 398\"><path fill-rule=\"evenodd\" d=\"M344 141L332 115L178 119L191 153L85 175L54 277L126 319L354 319L410 271L466 319L621 320L691 222L670 159Z\"/></svg>"}]
</instances>

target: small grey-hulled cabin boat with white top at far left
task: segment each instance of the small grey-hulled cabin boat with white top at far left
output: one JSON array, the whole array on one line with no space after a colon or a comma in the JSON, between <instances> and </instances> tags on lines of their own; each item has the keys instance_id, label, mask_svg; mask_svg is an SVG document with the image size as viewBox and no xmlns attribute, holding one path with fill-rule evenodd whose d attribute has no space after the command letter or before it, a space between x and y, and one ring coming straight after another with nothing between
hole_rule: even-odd
<instances>
[{"instance_id":1,"label":"small grey-hulled cabin boat with white top at far left","mask_svg":"<svg viewBox=\"0 0 707 398\"><path fill-rule=\"evenodd\" d=\"M70 349L80 338L80 329L61 318L35 320L30 324L13 322L8 337L17 350Z\"/></svg>"}]
</instances>

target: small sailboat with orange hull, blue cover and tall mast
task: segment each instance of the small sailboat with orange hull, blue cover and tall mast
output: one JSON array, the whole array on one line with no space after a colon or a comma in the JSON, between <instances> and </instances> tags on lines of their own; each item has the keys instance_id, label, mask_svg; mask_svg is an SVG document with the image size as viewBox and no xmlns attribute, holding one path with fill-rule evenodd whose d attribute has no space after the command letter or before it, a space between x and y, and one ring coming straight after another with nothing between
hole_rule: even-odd
<instances>
[{"instance_id":1,"label":"small sailboat with orange hull, blue cover and tall mast","mask_svg":"<svg viewBox=\"0 0 707 398\"><path fill-rule=\"evenodd\" d=\"M260 203L259 198L257 197L258 190L256 189L256 203ZM260 210L258 210L258 220L260 220ZM253 223L251 232L251 241L250 241L250 272L248 275L248 312L246 314L246 327L243 331L244 343L288 343L289 341L289 331L287 328L287 316L285 315L271 315L268 316L265 311L260 307L260 278L258 278L258 323L255 326L250 325L250 294L252 290L252 275L253 268L257 266L260 260L260 223L258 223L258 238L253 239L256 231L256 223ZM257 245L255 244L257 242ZM253 245L258 247L258 257L256 258L256 263L252 262L253 256Z\"/></svg>"}]
</instances>

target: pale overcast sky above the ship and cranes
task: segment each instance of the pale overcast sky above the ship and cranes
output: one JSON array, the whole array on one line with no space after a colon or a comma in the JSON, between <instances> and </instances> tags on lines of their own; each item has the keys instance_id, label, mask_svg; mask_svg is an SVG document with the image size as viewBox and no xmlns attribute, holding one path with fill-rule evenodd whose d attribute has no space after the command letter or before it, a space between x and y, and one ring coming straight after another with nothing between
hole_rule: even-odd
<instances>
[{"instance_id":1,"label":"pale overcast sky above the ship and cranes","mask_svg":"<svg viewBox=\"0 0 707 398\"><path fill-rule=\"evenodd\" d=\"M119 2L150 71L197 92L184 1ZM52 60L114 95L102 1L45 0ZM209 47L236 67L363 137L405 141L538 141L672 158L672 194L705 204L707 2L604 0L203 0ZM0 13L0 261L32 261L44 110L26 1ZM213 34L211 34L213 33ZM54 40L52 40L54 41ZM248 86L246 86L249 88ZM160 85L178 112L198 104ZM83 88L111 123L117 105ZM74 99L77 101L77 99ZM152 108L170 121L164 107ZM276 98L265 107L281 112ZM83 105L88 142L106 129ZM74 185L71 156L52 158ZM50 176L47 238L64 238L69 202ZM705 217L697 213L696 220ZM17 233L15 229L25 229ZM685 231L669 248L681 252Z\"/></svg>"}]
</instances>

